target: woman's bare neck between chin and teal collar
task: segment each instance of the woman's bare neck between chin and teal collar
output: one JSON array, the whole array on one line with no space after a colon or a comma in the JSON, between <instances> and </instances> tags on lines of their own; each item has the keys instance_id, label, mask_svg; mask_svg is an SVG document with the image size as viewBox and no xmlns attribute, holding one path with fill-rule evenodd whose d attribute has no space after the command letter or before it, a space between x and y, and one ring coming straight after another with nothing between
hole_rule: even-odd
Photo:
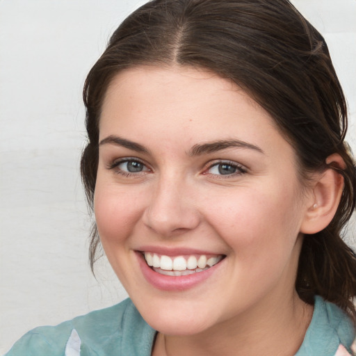
<instances>
[{"instance_id":1,"label":"woman's bare neck between chin and teal collar","mask_svg":"<svg viewBox=\"0 0 356 356\"><path fill-rule=\"evenodd\" d=\"M282 305L273 305L256 306L248 315L219 323L199 334L159 333L152 356L275 356L276 350L281 356L294 355L312 319L313 307L302 302L296 293L285 298Z\"/></svg>"}]
</instances>

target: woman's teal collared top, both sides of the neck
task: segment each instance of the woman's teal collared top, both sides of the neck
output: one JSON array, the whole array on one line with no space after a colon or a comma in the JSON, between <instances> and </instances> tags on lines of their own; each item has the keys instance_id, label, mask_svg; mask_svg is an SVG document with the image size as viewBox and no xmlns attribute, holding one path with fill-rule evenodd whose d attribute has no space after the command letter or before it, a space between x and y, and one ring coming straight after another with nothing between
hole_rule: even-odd
<instances>
[{"instance_id":1,"label":"woman's teal collared top, both sides of the neck","mask_svg":"<svg viewBox=\"0 0 356 356\"><path fill-rule=\"evenodd\" d=\"M150 356L155 336L127 299L56 326L36 327L6 356ZM316 296L312 321L296 356L353 355L354 339L349 316Z\"/></svg>"}]
</instances>

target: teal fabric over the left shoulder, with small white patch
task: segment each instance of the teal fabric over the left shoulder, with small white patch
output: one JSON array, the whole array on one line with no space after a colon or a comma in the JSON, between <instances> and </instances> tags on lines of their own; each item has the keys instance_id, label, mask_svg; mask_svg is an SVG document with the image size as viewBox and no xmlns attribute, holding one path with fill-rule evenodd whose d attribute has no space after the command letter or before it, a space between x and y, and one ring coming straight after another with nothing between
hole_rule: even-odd
<instances>
[{"instance_id":1,"label":"teal fabric over the left shoulder, with small white patch","mask_svg":"<svg viewBox=\"0 0 356 356\"><path fill-rule=\"evenodd\" d=\"M6 356L119 356L136 355L136 349L145 355L146 349L150 353L154 334L127 299L56 326L36 327L19 339ZM80 353L68 351L76 347Z\"/></svg>"}]
</instances>

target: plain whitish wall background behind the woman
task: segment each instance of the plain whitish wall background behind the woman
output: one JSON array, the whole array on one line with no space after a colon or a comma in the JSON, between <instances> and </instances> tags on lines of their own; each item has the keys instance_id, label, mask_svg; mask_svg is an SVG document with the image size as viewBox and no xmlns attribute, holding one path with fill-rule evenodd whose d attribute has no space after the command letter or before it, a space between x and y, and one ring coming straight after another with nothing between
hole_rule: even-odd
<instances>
[{"instance_id":1,"label":"plain whitish wall background behind the woman","mask_svg":"<svg viewBox=\"0 0 356 356\"><path fill-rule=\"evenodd\" d=\"M0 353L24 332L126 297L88 266L81 90L131 0L0 0ZM356 151L356 1L294 0L325 35ZM355 235L350 229L348 237Z\"/></svg>"}]
</instances>

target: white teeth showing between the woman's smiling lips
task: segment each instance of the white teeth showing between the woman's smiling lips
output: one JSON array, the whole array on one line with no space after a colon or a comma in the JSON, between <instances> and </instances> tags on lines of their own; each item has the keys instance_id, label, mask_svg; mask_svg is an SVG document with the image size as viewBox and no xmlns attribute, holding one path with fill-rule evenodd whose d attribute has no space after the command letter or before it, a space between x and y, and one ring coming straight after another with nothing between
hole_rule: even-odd
<instances>
[{"instance_id":1,"label":"white teeth showing between the woman's smiling lips","mask_svg":"<svg viewBox=\"0 0 356 356\"><path fill-rule=\"evenodd\" d=\"M143 252L145 261L156 273L170 276L183 276L199 273L218 264L225 256L223 254L184 255L170 257L164 254Z\"/></svg>"}]
</instances>

